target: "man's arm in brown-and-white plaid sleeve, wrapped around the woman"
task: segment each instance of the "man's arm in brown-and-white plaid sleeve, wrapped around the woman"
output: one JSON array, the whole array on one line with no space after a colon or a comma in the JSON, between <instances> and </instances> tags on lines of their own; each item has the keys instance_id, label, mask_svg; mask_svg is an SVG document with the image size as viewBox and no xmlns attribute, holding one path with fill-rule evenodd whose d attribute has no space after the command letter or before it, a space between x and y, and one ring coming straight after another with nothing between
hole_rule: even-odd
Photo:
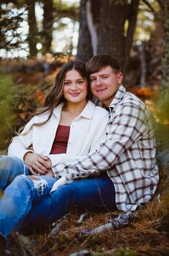
<instances>
[{"instance_id":1,"label":"man's arm in brown-and-white plaid sleeve, wrapped around the woman","mask_svg":"<svg viewBox=\"0 0 169 256\"><path fill-rule=\"evenodd\" d=\"M138 106L124 104L118 107L113 120L110 120L112 125L107 139L102 142L100 149L79 157L71 164L58 165L54 170L55 177L66 175L68 179L83 178L112 168L117 158L143 137L147 129L145 119L144 111Z\"/></svg>"}]
</instances>

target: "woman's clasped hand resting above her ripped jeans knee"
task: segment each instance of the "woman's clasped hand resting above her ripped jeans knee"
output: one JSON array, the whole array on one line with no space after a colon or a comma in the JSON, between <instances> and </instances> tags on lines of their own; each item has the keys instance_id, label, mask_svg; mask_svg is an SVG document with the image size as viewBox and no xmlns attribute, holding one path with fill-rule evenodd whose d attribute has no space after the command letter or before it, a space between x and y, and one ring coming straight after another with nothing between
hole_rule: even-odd
<instances>
[{"instance_id":1,"label":"woman's clasped hand resting above her ripped jeans knee","mask_svg":"<svg viewBox=\"0 0 169 256\"><path fill-rule=\"evenodd\" d=\"M45 175L51 168L51 160L49 160L49 157L41 154L27 152L24 155L24 162L33 175Z\"/></svg>"}]
</instances>

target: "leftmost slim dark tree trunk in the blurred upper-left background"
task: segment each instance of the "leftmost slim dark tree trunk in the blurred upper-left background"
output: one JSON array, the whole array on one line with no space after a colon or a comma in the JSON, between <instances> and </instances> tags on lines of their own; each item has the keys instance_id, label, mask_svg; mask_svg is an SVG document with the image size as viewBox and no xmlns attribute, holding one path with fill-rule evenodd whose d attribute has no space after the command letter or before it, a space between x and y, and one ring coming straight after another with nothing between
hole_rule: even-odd
<instances>
[{"instance_id":1,"label":"leftmost slim dark tree trunk in the blurred upper-left background","mask_svg":"<svg viewBox=\"0 0 169 256\"><path fill-rule=\"evenodd\" d=\"M26 0L26 4L28 6L29 56L35 57L37 55L37 20L34 9L35 0Z\"/></svg>"}]
</instances>

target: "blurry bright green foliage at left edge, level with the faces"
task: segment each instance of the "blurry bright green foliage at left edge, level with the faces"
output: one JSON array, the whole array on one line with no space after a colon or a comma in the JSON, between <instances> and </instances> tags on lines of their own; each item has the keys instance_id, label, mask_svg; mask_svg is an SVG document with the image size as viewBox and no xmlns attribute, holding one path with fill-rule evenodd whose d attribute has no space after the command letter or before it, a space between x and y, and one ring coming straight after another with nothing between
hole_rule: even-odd
<instances>
[{"instance_id":1,"label":"blurry bright green foliage at left edge, level with the faces","mask_svg":"<svg viewBox=\"0 0 169 256\"><path fill-rule=\"evenodd\" d=\"M11 76L0 76L0 150L6 148L14 123L14 93L16 88Z\"/></svg>"}]
</instances>

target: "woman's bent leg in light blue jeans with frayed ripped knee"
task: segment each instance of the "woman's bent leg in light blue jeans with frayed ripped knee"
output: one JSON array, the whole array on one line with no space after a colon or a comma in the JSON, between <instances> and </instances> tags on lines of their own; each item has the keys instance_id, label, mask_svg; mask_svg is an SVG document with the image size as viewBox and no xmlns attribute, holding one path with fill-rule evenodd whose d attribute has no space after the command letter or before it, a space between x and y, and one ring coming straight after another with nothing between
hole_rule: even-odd
<instances>
[{"instance_id":1,"label":"woman's bent leg in light blue jeans with frayed ripped knee","mask_svg":"<svg viewBox=\"0 0 169 256\"><path fill-rule=\"evenodd\" d=\"M32 203L47 196L55 181L48 176L16 176L0 200L0 234L7 238L12 229L18 229Z\"/></svg>"}]
</instances>

